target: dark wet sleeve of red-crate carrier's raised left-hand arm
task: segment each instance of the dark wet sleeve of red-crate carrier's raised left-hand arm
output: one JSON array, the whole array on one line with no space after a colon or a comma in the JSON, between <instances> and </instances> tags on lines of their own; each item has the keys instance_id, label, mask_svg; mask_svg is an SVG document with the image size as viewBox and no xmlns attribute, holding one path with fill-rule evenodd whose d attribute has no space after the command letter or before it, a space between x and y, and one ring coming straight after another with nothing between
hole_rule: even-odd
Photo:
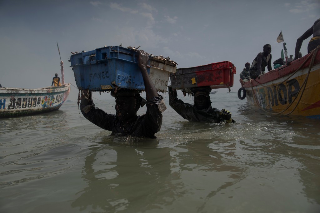
<instances>
[{"instance_id":1,"label":"dark wet sleeve of red-crate carrier's raised left-hand arm","mask_svg":"<svg viewBox=\"0 0 320 213\"><path fill-rule=\"evenodd\" d=\"M178 99L177 91L172 90L169 87L169 105L184 119L190 120L193 117L193 106L186 104L182 100Z\"/></svg>"}]
</instances>

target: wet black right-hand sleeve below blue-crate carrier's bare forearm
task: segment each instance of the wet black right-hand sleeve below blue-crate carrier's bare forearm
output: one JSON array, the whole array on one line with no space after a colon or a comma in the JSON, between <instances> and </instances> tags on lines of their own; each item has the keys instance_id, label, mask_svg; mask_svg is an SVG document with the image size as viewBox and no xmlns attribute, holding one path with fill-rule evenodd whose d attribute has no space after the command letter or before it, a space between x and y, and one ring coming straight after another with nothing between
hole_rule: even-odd
<instances>
[{"instance_id":1,"label":"wet black right-hand sleeve below blue-crate carrier's bare forearm","mask_svg":"<svg viewBox=\"0 0 320 213\"><path fill-rule=\"evenodd\" d=\"M147 112L143 121L143 133L146 136L154 136L160 131L162 125L162 112L166 110L163 97L161 95L147 100Z\"/></svg>"}]
</instances>

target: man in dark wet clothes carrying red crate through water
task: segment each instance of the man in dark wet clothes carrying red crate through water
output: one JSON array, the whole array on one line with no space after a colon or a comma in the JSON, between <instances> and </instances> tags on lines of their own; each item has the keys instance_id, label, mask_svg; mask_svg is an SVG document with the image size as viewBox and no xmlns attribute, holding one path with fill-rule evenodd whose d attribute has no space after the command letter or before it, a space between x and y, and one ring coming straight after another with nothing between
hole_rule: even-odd
<instances>
[{"instance_id":1,"label":"man in dark wet clothes carrying red crate through water","mask_svg":"<svg viewBox=\"0 0 320 213\"><path fill-rule=\"evenodd\" d=\"M231 119L231 113L228 110L222 109L221 111L212 108L209 93L211 88L196 87L192 89L194 95L194 105L184 103L178 99L177 91L169 88L169 105L178 114L188 121L220 123L220 122L235 122Z\"/></svg>"}]
</instances>

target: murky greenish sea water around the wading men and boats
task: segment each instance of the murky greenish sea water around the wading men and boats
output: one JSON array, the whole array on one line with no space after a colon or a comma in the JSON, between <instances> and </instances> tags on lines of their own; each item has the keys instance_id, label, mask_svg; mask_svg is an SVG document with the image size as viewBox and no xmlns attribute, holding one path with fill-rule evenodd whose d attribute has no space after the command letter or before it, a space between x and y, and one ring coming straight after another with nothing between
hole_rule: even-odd
<instances>
[{"instance_id":1,"label":"murky greenish sea water around the wading men and boats","mask_svg":"<svg viewBox=\"0 0 320 213\"><path fill-rule=\"evenodd\" d=\"M320 212L319 120L219 91L236 123L188 122L164 99L157 139L110 136L76 101L0 119L0 212Z\"/></svg>"}]
</instances>

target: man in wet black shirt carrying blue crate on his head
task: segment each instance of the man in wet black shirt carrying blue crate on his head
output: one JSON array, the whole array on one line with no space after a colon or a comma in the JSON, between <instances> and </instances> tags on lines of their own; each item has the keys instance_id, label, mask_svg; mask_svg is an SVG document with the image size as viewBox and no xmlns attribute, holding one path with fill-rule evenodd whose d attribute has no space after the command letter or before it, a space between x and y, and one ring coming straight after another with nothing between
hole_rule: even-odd
<instances>
[{"instance_id":1,"label":"man in wet black shirt carrying blue crate on his head","mask_svg":"<svg viewBox=\"0 0 320 213\"><path fill-rule=\"evenodd\" d=\"M138 51L138 65L143 77L147 101L141 98L140 91L119 88L111 91L116 100L116 115L95 108L91 92L82 91L80 109L86 119L112 132L112 135L132 135L156 138L162 125L162 112L166 109L163 97L158 95L155 85L147 73L148 53ZM137 116L140 106L147 104L147 112Z\"/></svg>"}]
</instances>

